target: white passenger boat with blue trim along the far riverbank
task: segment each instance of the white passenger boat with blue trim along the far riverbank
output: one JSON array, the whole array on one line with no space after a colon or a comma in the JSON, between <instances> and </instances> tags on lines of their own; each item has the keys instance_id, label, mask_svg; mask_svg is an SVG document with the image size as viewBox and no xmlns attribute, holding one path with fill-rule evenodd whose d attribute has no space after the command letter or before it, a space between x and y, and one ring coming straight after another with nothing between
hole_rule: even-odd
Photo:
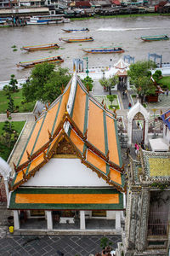
<instances>
[{"instance_id":1,"label":"white passenger boat with blue trim along the far riverbank","mask_svg":"<svg viewBox=\"0 0 170 256\"><path fill-rule=\"evenodd\" d=\"M65 19L63 15L32 16L30 20L27 21L27 25L59 24L70 21L70 19Z\"/></svg>"}]
</instances>

